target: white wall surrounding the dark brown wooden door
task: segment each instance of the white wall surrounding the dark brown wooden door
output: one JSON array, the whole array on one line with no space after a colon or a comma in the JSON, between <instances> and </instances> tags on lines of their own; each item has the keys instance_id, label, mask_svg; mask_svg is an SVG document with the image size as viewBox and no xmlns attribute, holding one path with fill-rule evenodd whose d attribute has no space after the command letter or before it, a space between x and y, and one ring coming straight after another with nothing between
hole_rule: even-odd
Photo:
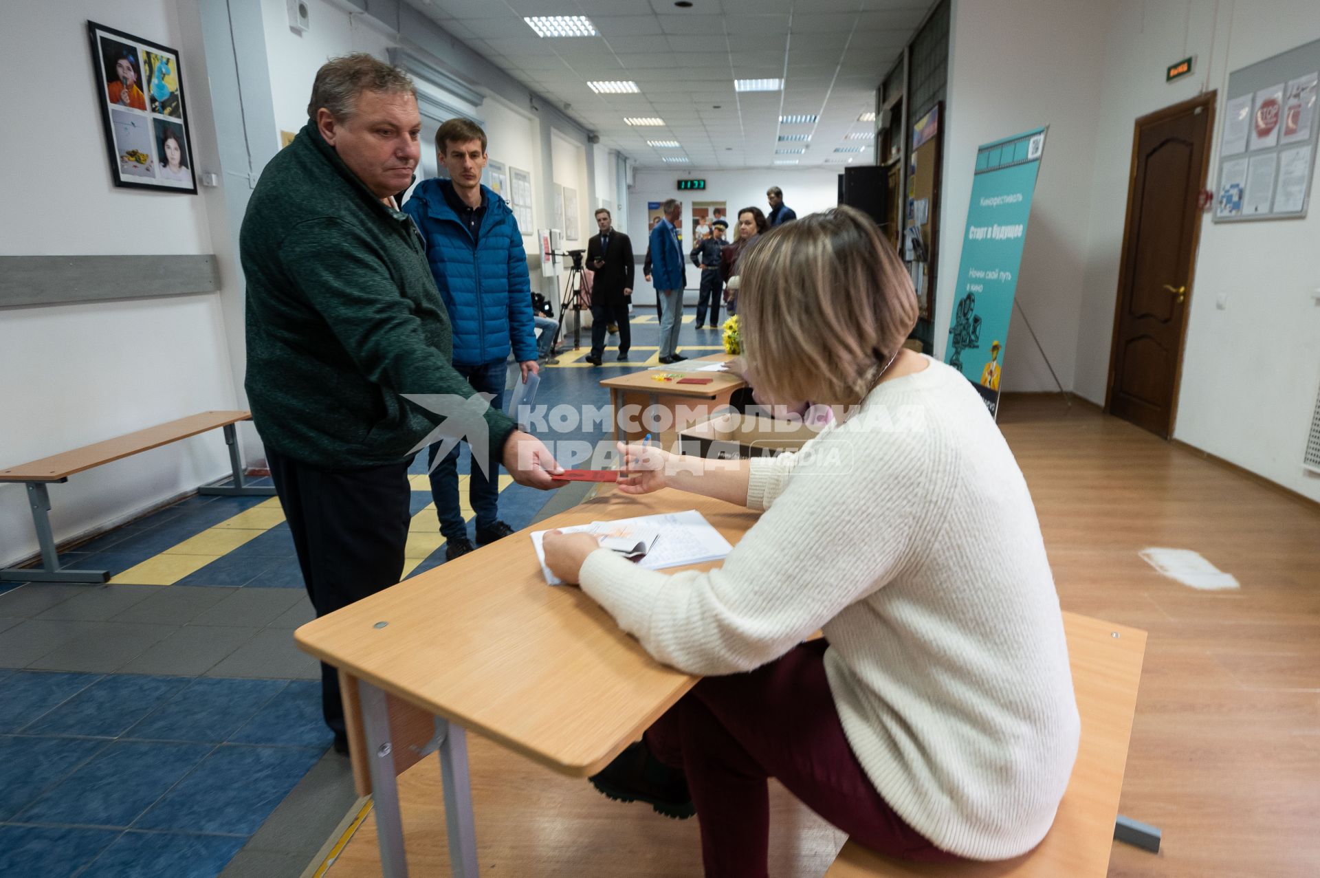
<instances>
[{"instance_id":1,"label":"white wall surrounding the dark brown wooden door","mask_svg":"<svg viewBox=\"0 0 1320 878\"><path fill-rule=\"evenodd\" d=\"M1097 403L1107 382L1133 123L1203 88L1218 91L1221 121L1230 71L1320 38L1313 0L1114 5L1077 335L1077 392ZM1166 84L1163 66L1189 54L1197 57L1196 75ZM1213 147L1210 187L1218 131ZM1173 429L1175 438L1312 499L1320 499L1320 479L1305 475L1300 461L1320 384L1320 305L1311 297L1320 287L1317 242L1313 201L1302 220L1216 224L1210 214L1201 218ZM1216 308L1220 296L1224 310Z\"/></svg>"}]
</instances>

